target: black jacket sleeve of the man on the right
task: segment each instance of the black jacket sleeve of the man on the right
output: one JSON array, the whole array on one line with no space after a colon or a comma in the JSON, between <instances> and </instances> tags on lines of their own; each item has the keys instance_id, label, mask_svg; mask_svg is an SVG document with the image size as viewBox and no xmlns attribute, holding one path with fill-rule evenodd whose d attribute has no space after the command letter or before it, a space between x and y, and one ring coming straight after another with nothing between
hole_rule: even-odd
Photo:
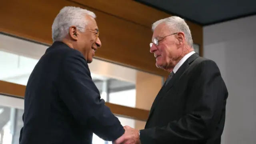
<instances>
[{"instance_id":1,"label":"black jacket sleeve of the man on the right","mask_svg":"<svg viewBox=\"0 0 256 144\"><path fill-rule=\"evenodd\" d=\"M142 144L204 143L216 131L226 106L226 86L212 60L201 62L195 69L187 88L190 112L167 126L141 130Z\"/></svg>"}]
</instances>

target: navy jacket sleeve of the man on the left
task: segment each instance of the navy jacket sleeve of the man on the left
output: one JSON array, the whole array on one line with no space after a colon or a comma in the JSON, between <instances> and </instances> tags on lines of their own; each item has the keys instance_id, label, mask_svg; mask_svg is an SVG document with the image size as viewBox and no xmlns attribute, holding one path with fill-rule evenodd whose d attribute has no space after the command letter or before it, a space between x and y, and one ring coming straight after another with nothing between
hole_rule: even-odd
<instances>
[{"instance_id":1,"label":"navy jacket sleeve of the man on the left","mask_svg":"<svg viewBox=\"0 0 256 144\"><path fill-rule=\"evenodd\" d=\"M114 141L124 128L100 99L100 93L90 76L88 64L76 50L69 52L60 66L58 90L74 118L103 140Z\"/></svg>"}]
</instances>

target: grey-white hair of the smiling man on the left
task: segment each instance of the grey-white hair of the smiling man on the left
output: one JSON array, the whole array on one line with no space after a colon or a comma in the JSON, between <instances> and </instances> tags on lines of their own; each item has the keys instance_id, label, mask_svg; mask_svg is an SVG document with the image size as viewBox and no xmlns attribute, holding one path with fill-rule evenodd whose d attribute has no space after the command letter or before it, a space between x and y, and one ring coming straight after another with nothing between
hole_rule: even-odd
<instances>
[{"instance_id":1,"label":"grey-white hair of the smiling man on the left","mask_svg":"<svg viewBox=\"0 0 256 144\"><path fill-rule=\"evenodd\" d=\"M61 41L68 34L70 26L77 26L80 32L85 31L87 20L85 16L89 15L96 18L96 15L79 7L65 6L59 12L52 24L52 40L53 42Z\"/></svg>"}]
</instances>

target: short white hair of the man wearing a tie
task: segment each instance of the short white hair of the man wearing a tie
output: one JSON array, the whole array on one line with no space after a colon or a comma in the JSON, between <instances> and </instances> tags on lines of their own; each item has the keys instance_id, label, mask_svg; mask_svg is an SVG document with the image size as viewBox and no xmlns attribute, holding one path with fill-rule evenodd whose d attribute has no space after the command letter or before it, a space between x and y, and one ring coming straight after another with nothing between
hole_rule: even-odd
<instances>
[{"instance_id":1,"label":"short white hair of the man wearing a tie","mask_svg":"<svg viewBox=\"0 0 256 144\"><path fill-rule=\"evenodd\" d=\"M178 16L171 16L169 18L164 18L164 19L158 20L158 21L154 22L154 24L152 24L152 30L154 31L156 26L158 26L158 24L160 24L162 22L165 22L165 24L168 25L170 30L172 30L174 32L184 32L186 42L188 43L189 46L191 46L191 48L193 48L192 35L191 35L190 29L188 27L188 24L186 24L184 19L182 19Z\"/></svg>"}]
</instances>

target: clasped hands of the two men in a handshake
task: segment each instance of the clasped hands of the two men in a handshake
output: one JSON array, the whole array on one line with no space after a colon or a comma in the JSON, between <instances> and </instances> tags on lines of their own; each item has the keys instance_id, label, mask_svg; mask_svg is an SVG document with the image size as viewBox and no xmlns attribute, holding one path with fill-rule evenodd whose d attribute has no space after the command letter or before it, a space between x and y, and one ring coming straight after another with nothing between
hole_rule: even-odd
<instances>
[{"instance_id":1,"label":"clasped hands of the two men in a handshake","mask_svg":"<svg viewBox=\"0 0 256 144\"><path fill-rule=\"evenodd\" d=\"M131 128L130 126L124 126L124 134L120 136L113 144L141 144L139 130Z\"/></svg>"}]
</instances>

